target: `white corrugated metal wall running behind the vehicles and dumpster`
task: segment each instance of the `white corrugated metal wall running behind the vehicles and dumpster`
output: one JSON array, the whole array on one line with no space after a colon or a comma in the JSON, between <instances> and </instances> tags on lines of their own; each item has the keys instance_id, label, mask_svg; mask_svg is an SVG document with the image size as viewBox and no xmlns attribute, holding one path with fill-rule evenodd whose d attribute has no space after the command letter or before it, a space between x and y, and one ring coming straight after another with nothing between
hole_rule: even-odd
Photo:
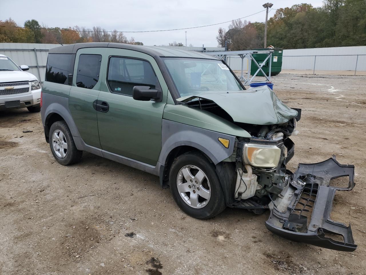
<instances>
[{"instance_id":1,"label":"white corrugated metal wall running behind the vehicles and dumpster","mask_svg":"<svg viewBox=\"0 0 366 275\"><path fill-rule=\"evenodd\" d=\"M44 81L48 50L59 44L0 43L0 54L9 56L17 65L30 66L29 72ZM167 48L175 48L165 46ZM37 69L36 48L39 74ZM179 47L179 49L202 50L201 47ZM208 51L223 51L224 48L206 47ZM316 55L316 58L315 58ZM328 55L328 56L324 56ZM330 55L330 56L329 56ZM332 56L333 55L333 56ZM337 56L334 56L337 55ZM358 57L357 57L358 55ZM333 47L312 49L284 49L282 69L284 70L350 70L366 71L366 46ZM241 70L242 59L228 57L227 63L232 70ZM248 59L244 58L243 70L246 71Z\"/></svg>"}]
</instances>

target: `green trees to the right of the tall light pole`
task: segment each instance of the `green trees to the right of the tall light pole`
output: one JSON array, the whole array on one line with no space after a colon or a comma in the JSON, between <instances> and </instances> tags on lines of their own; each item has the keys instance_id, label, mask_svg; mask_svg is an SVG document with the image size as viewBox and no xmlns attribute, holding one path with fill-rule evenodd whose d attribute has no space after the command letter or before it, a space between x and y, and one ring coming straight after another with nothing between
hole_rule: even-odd
<instances>
[{"instance_id":1,"label":"green trees to the right of the tall light pole","mask_svg":"<svg viewBox=\"0 0 366 275\"><path fill-rule=\"evenodd\" d=\"M268 45L285 49L366 44L366 1L325 0L278 9L268 21Z\"/></svg>"}]
</instances>

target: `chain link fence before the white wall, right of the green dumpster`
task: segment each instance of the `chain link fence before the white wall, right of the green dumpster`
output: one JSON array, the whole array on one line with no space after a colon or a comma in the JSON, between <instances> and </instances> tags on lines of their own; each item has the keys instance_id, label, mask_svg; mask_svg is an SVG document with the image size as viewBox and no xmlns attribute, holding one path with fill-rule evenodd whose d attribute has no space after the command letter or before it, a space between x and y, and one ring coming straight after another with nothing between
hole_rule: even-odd
<instances>
[{"instance_id":1,"label":"chain link fence before the white wall, right of the green dumpster","mask_svg":"<svg viewBox=\"0 0 366 275\"><path fill-rule=\"evenodd\" d=\"M284 55L281 72L366 76L366 55Z\"/></svg>"}]
</instances>

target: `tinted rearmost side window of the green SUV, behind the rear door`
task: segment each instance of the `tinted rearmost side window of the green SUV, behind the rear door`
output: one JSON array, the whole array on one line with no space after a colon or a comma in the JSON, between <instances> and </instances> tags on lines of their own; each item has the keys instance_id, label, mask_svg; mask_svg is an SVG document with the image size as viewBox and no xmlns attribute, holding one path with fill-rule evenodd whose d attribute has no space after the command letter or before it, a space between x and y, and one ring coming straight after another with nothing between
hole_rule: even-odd
<instances>
[{"instance_id":1,"label":"tinted rearmost side window of the green SUV, behind the rear door","mask_svg":"<svg viewBox=\"0 0 366 275\"><path fill-rule=\"evenodd\" d=\"M47 58L46 81L67 85L67 76L72 74L73 71L71 59L72 54L49 54Z\"/></svg>"}]
</instances>

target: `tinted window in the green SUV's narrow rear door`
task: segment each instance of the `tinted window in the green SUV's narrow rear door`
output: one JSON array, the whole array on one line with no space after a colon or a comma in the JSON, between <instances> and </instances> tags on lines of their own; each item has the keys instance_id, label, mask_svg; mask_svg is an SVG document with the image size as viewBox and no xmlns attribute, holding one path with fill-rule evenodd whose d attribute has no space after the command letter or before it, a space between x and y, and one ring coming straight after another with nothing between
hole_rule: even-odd
<instances>
[{"instance_id":1,"label":"tinted window in the green SUV's narrow rear door","mask_svg":"<svg viewBox=\"0 0 366 275\"><path fill-rule=\"evenodd\" d=\"M81 54L79 56L76 86L93 89L97 84L102 56L98 54Z\"/></svg>"}]
</instances>

